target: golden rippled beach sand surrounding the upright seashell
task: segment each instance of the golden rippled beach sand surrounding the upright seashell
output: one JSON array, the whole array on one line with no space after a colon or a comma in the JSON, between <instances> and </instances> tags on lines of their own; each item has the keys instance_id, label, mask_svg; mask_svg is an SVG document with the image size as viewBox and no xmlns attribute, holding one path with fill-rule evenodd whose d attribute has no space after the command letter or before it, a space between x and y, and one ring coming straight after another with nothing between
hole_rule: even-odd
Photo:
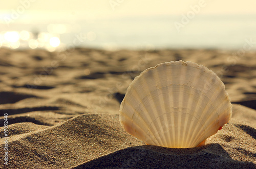
<instances>
[{"instance_id":1,"label":"golden rippled beach sand surrounding the upright seashell","mask_svg":"<svg viewBox=\"0 0 256 169\"><path fill-rule=\"evenodd\" d=\"M256 168L256 52L236 52L0 49L0 168ZM206 146L146 146L122 129L120 102L141 71L180 59L217 73L233 116Z\"/></svg>"}]
</instances>

